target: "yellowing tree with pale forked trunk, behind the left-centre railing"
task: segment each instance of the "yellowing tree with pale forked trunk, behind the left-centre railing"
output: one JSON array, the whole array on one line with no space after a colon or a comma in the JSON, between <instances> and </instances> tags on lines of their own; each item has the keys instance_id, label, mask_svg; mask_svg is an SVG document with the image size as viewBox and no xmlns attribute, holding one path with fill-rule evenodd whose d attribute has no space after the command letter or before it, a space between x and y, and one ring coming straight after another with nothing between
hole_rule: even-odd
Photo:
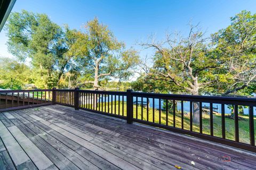
<instances>
[{"instance_id":1,"label":"yellowing tree with pale forked trunk, behind the left-centre railing","mask_svg":"<svg viewBox=\"0 0 256 170\"><path fill-rule=\"evenodd\" d=\"M77 33L76 63L81 72L87 75L83 83L92 83L93 89L100 89L100 80L115 78L127 80L132 69L139 62L137 52L125 50L123 43L115 38L107 25L95 18L87 22L85 31ZM89 76L88 76L89 75Z\"/></svg>"}]
</instances>

